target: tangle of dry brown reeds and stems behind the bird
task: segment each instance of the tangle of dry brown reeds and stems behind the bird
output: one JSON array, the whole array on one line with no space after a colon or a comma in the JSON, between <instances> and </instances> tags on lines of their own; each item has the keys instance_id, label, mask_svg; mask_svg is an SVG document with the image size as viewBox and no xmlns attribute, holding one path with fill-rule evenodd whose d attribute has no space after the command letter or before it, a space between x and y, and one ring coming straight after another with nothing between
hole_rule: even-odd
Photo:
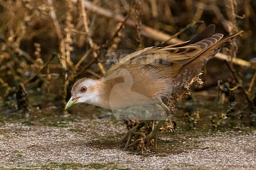
<instances>
[{"instance_id":1,"label":"tangle of dry brown reeds and stems behind the bird","mask_svg":"<svg viewBox=\"0 0 256 170\"><path fill-rule=\"evenodd\" d=\"M234 101L255 116L255 12L253 0L0 0L0 105L30 113L45 106L31 95L48 93L67 113L72 84L104 75L110 55L189 40L215 24L224 35L245 32L204 68L203 89L219 85L223 119Z\"/></svg>"}]
</instances>

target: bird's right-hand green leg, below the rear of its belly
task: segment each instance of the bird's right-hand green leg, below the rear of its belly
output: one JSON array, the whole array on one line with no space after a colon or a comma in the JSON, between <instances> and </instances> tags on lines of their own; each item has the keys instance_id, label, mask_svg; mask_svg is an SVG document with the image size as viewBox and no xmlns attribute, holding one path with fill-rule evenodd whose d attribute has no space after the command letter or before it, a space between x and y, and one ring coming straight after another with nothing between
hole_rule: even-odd
<instances>
[{"instance_id":1,"label":"bird's right-hand green leg, below the rear of its belly","mask_svg":"<svg viewBox=\"0 0 256 170\"><path fill-rule=\"evenodd\" d=\"M161 128L161 126L165 122L165 119L167 119L167 117L169 117L169 115L170 115L169 108L163 102L160 103L160 106L165 110L166 115L164 117L162 117L163 120L160 120L158 122L158 124L154 127L154 129L152 129L152 131L148 135L148 142L147 142L147 145L146 145L147 147L150 145L151 140L154 139L154 138L155 138L154 147L155 148L157 147L156 135L158 133L158 130Z\"/></svg>"}]
</instances>

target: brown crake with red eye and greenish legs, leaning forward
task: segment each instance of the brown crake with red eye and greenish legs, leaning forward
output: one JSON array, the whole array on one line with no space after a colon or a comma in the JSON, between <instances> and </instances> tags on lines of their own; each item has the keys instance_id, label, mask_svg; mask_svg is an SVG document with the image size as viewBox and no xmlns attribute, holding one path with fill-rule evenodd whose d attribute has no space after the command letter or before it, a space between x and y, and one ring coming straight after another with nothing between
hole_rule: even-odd
<instances>
[{"instance_id":1,"label":"brown crake with red eye and greenish legs, leaning forward","mask_svg":"<svg viewBox=\"0 0 256 170\"><path fill-rule=\"evenodd\" d=\"M165 47L147 47L127 55L116 62L100 79L82 78L74 83L71 97L65 108L73 104L87 103L106 109L120 109L138 105L159 104L167 117L169 108L163 103L163 97L184 87L197 76L202 67L230 40L242 33L239 31L223 38L210 24L193 39ZM150 117L130 132L138 130ZM154 139L165 119L158 122L148 136L148 143ZM129 132L129 134L131 134ZM128 133L122 137L130 138ZM129 139L126 147L129 146Z\"/></svg>"}]
</instances>

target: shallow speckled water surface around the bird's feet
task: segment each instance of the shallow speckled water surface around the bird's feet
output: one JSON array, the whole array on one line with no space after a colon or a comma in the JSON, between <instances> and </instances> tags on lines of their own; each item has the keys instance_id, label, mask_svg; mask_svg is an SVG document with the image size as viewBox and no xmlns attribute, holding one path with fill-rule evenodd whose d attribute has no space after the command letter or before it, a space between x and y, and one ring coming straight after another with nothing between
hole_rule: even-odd
<instances>
[{"instance_id":1,"label":"shallow speckled water surface around the bird's feet","mask_svg":"<svg viewBox=\"0 0 256 170\"><path fill-rule=\"evenodd\" d=\"M224 106L185 105L200 111L194 129L179 105L176 132L160 134L158 149L150 153L119 148L126 126L109 110L77 104L63 116L49 102L24 117L1 107L0 169L256 169L255 121L234 116L213 130L210 116Z\"/></svg>"}]
</instances>

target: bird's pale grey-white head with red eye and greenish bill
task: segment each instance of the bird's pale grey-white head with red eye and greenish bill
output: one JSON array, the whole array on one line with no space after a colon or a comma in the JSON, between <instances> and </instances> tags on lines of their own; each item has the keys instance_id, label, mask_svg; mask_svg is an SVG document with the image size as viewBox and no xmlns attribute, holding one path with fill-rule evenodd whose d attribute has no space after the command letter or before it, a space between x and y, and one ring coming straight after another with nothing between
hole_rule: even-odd
<instances>
[{"instance_id":1,"label":"bird's pale grey-white head with red eye and greenish bill","mask_svg":"<svg viewBox=\"0 0 256 170\"><path fill-rule=\"evenodd\" d=\"M72 87L71 97L66 104L65 109L76 103L88 103L97 105L99 100L98 80L82 78Z\"/></svg>"}]
</instances>

